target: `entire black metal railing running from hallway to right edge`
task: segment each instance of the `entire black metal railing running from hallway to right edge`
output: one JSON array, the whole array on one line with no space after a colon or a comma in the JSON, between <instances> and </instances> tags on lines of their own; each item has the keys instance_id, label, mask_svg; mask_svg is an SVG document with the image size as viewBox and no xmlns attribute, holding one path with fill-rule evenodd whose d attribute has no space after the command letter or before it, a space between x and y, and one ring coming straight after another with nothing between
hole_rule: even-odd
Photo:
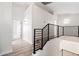
<instances>
[{"instance_id":1,"label":"entire black metal railing running from hallway to right edge","mask_svg":"<svg viewBox=\"0 0 79 59\"><path fill-rule=\"evenodd\" d=\"M57 29L55 29L54 26L56 26ZM33 53L35 54L36 51L39 50L39 49L42 50L43 47L45 46L45 44L47 43L47 41L49 41L50 39L55 38L54 37L54 34L55 34L54 30L56 30L56 33L57 33L56 37L64 36L65 33L66 33L65 32L65 30L66 30L65 27L77 27L76 31L78 30L78 33L74 34L74 35L77 35L77 37L79 37L79 26L59 26L59 25L54 25L54 24L49 24L48 23L42 29L40 29L40 28L34 29ZM69 35L70 33L67 33L67 34Z\"/></svg>"}]
</instances>

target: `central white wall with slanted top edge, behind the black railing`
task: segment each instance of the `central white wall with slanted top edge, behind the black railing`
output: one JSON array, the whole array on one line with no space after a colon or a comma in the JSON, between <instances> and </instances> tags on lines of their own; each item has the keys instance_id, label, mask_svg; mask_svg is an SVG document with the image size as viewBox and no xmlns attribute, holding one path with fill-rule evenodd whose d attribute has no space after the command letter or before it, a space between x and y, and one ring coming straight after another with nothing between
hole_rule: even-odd
<instances>
[{"instance_id":1,"label":"central white wall with slanted top edge, behind the black railing","mask_svg":"<svg viewBox=\"0 0 79 59\"><path fill-rule=\"evenodd\" d=\"M49 20L53 20L52 14L36 5L33 5L32 12L33 28L43 28L47 23L49 23Z\"/></svg>"}]
</instances>

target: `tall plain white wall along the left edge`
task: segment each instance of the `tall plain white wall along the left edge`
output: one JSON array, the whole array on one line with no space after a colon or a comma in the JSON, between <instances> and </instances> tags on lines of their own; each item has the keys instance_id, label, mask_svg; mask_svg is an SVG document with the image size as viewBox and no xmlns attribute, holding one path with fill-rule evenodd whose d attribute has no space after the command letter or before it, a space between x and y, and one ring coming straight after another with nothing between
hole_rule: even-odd
<instances>
[{"instance_id":1,"label":"tall plain white wall along the left edge","mask_svg":"<svg viewBox=\"0 0 79 59\"><path fill-rule=\"evenodd\" d=\"M0 55L11 52L12 4L0 3Z\"/></svg>"}]
</instances>

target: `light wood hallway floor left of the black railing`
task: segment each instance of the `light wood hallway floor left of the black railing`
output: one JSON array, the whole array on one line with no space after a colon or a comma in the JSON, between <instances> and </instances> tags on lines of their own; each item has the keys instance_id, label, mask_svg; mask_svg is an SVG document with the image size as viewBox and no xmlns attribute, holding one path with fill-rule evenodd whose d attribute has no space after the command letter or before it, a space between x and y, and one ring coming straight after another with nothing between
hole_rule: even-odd
<instances>
[{"instance_id":1,"label":"light wood hallway floor left of the black railing","mask_svg":"<svg viewBox=\"0 0 79 59\"><path fill-rule=\"evenodd\" d=\"M31 56L32 45L24 40L14 40L12 42L13 52L5 54L5 56Z\"/></svg>"}]
</instances>

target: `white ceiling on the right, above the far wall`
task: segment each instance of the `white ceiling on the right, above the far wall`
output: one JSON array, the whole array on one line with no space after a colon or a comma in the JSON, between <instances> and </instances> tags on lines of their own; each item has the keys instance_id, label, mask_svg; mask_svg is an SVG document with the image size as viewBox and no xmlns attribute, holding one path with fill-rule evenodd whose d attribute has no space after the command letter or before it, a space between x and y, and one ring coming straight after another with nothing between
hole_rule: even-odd
<instances>
[{"instance_id":1,"label":"white ceiling on the right, above the far wall","mask_svg":"<svg viewBox=\"0 0 79 59\"><path fill-rule=\"evenodd\" d=\"M53 2L46 6L57 14L79 13L79 2Z\"/></svg>"}]
</instances>

